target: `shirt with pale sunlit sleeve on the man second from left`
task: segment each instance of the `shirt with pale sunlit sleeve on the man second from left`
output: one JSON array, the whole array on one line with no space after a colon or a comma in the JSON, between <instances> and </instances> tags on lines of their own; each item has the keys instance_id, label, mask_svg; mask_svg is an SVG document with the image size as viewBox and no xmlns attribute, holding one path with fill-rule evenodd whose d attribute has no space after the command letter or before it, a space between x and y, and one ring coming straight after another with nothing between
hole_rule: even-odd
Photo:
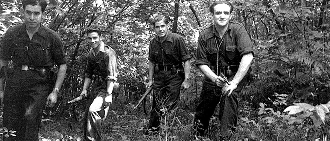
<instances>
[{"instance_id":1,"label":"shirt with pale sunlit sleeve on the man second from left","mask_svg":"<svg viewBox=\"0 0 330 141\"><path fill-rule=\"evenodd\" d=\"M85 70L85 77L92 78L92 75L99 75L107 80L117 81L117 55L114 49L101 42L100 49L91 49L88 53L88 61Z\"/></svg>"}]
</instances>

